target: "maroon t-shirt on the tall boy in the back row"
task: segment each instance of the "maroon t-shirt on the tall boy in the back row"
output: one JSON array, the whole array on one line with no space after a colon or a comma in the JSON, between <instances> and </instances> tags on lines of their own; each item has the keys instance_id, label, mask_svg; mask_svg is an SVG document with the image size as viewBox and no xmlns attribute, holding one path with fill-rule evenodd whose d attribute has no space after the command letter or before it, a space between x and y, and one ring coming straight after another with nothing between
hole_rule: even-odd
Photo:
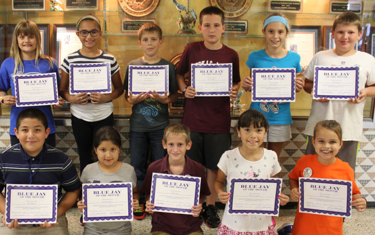
<instances>
[{"instance_id":1,"label":"maroon t-shirt on the tall boy in the back row","mask_svg":"<svg viewBox=\"0 0 375 235\"><path fill-rule=\"evenodd\" d=\"M177 67L177 74L189 72L191 86L191 64L224 64L232 63L233 83L241 81L238 54L223 45L219 50L209 50L204 41L192 42L185 47ZM223 134L230 130L229 97L194 97L186 99L182 123L193 132Z\"/></svg>"}]
</instances>

